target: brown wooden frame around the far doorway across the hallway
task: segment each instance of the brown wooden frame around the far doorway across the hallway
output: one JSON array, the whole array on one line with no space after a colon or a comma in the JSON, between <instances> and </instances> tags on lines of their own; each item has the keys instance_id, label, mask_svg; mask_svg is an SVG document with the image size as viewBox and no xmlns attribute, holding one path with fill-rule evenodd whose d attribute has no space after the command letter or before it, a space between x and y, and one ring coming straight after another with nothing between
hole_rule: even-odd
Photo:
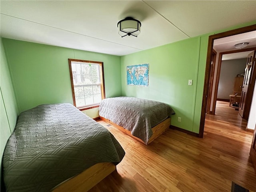
<instances>
[{"instance_id":1,"label":"brown wooden frame around the far doorway across the hallway","mask_svg":"<svg viewBox=\"0 0 256 192\"><path fill-rule=\"evenodd\" d=\"M215 110L216 110L218 87L219 87L219 82L220 82L220 70L221 70L221 64L222 64L222 55L230 54L230 53L240 53L240 52L245 52L245 51L254 51L254 50L256 50L255 47L240 49L240 50L233 50L233 51L225 51L225 52L219 53L217 73L216 73L216 83L215 83L215 88L214 88L214 97L213 97L213 104L212 104L212 114L213 115L215 115Z\"/></svg>"}]
</instances>

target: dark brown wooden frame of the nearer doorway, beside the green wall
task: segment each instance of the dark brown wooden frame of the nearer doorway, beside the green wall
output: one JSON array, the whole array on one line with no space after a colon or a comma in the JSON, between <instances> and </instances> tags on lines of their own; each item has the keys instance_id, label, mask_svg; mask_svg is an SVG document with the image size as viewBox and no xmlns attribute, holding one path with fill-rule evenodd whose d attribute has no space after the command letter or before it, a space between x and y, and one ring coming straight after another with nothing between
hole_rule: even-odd
<instances>
[{"instance_id":1,"label":"dark brown wooden frame of the nearer doorway, beside the green wall","mask_svg":"<svg viewBox=\"0 0 256 192\"><path fill-rule=\"evenodd\" d=\"M203 138L203 136L204 136L204 123L205 123L205 116L206 116L207 93L208 93L208 84L210 81L210 64L211 64L214 40L232 36L232 35L241 34L241 33L251 32L251 31L255 31L255 30L256 30L256 24L209 36L208 48L207 48L207 58L206 58L206 69L205 69L205 76L204 76L204 91L203 91L203 98L202 98L201 119L200 119L200 127L199 127L199 137L200 138Z\"/></svg>"}]
</instances>

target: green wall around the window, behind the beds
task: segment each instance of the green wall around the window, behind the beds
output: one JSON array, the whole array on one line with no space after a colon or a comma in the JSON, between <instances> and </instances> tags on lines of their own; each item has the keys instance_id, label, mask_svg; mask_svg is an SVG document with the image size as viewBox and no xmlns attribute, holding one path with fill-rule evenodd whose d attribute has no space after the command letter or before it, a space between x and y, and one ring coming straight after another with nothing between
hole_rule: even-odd
<instances>
[{"instance_id":1,"label":"green wall around the window, behind the beds","mask_svg":"<svg viewBox=\"0 0 256 192\"><path fill-rule=\"evenodd\" d=\"M120 56L6 38L3 44L19 112L39 104L73 104L68 58L104 62L106 97L121 95ZM97 112L90 110L88 116L94 118Z\"/></svg>"}]
</instances>

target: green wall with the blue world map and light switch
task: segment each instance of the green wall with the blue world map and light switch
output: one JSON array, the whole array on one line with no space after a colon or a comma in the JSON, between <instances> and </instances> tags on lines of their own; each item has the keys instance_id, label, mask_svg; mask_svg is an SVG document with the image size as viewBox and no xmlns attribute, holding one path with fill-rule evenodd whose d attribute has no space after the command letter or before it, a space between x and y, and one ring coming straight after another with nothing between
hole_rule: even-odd
<instances>
[{"instance_id":1,"label":"green wall with the blue world map and light switch","mask_svg":"<svg viewBox=\"0 0 256 192\"><path fill-rule=\"evenodd\" d=\"M122 56L122 95L165 102L176 112L172 125L199 133L208 37L252 24L255 21ZM143 63L149 63L149 86L127 86L126 66ZM188 86L190 79L192 86Z\"/></svg>"}]
</instances>

